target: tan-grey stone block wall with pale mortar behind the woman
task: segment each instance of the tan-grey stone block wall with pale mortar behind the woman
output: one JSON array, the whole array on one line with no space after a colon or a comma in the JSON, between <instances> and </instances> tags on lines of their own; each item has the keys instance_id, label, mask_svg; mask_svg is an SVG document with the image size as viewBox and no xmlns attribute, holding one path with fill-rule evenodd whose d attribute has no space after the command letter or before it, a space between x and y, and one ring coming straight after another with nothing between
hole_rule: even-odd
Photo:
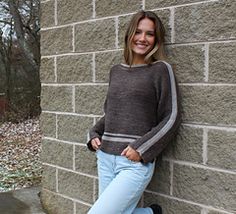
<instances>
[{"instance_id":1,"label":"tan-grey stone block wall with pale mortar behind the woman","mask_svg":"<svg viewBox=\"0 0 236 214\"><path fill-rule=\"evenodd\" d=\"M141 204L157 202L164 214L236 213L234 0L41 0L42 202L50 214L85 214L96 200L87 132L103 114L109 69L140 9L167 29L183 115Z\"/></svg>"}]
</instances>

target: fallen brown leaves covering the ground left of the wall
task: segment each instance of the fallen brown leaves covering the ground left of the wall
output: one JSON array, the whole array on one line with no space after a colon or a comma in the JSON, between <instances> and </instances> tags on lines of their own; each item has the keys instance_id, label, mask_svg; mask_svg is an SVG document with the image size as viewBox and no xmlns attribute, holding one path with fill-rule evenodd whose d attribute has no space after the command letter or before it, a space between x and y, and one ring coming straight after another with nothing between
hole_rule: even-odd
<instances>
[{"instance_id":1,"label":"fallen brown leaves covering the ground left of the wall","mask_svg":"<svg viewBox=\"0 0 236 214\"><path fill-rule=\"evenodd\" d=\"M39 118L0 124L0 192L41 183Z\"/></svg>"}]
</instances>

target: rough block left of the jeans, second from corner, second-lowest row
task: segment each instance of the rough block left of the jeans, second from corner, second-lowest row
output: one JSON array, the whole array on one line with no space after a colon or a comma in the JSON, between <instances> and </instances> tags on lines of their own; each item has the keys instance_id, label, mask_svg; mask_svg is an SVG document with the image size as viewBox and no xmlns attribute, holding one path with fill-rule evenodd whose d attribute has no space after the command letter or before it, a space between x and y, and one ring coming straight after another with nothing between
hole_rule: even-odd
<instances>
[{"instance_id":1,"label":"rough block left of the jeans, second from corner, second-lowest row","mask_svg":"<svg viewBox=\"0 0 236 214\"><path fill-rule=\"evenodd\" d=\"M58 180L59 193L77 200L93 203L93 178L59 170Z\"/></svg>"}]
</instances>

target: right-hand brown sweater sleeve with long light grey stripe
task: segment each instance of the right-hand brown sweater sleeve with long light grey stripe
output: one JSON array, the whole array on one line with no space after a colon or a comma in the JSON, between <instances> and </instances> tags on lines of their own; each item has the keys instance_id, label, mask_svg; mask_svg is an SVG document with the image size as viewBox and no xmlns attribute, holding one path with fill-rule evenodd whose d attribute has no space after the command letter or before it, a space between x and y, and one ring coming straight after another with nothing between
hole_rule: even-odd
<instances>
[{"instance_id":1,"label":"right-hand brown sweater sleeve with long light grey stripe","mask_svg":"<svg viewBox=\"0 0 236 214\"><path fill-rule=\"evenodd\" d=\"M132 142L143 162L155 159L176 134L180 124L177 84L171 66L163 62L161 81L154 80L159 96L157 105L157 125L141 138Z\"/></svg>"}]
</instances>

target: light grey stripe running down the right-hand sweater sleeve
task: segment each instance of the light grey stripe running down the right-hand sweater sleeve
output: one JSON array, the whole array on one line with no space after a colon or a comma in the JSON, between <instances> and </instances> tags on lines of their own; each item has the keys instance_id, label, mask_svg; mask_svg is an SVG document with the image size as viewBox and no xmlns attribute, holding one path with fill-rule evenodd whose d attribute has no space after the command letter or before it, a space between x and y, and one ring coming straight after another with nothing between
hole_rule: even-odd
<instances>
[{"instance_id":1,"label":"light grey stripe running down the right-hand sweater sleeve","mask_svg":"<svg viewBox=\"0 0 236 214\"><path fill-rule=\"evenodd\" d=\"M176 82L173 70L171 66L166 63L165 61L162 61L165 63L165 65L168 68L169 77L170 77L170 87L171 87L171 98L172 98L172 111L169 120L167 123L149 140L147 140L145 143L143 143L139 148L137 148L137 151L140 154L143 154L146 152L151 146L153 146L156 142L158 142L175 124L177 114L178 114L178 104L177 104L177 89L176 89Z\"/></svg>"}]
</instances>

